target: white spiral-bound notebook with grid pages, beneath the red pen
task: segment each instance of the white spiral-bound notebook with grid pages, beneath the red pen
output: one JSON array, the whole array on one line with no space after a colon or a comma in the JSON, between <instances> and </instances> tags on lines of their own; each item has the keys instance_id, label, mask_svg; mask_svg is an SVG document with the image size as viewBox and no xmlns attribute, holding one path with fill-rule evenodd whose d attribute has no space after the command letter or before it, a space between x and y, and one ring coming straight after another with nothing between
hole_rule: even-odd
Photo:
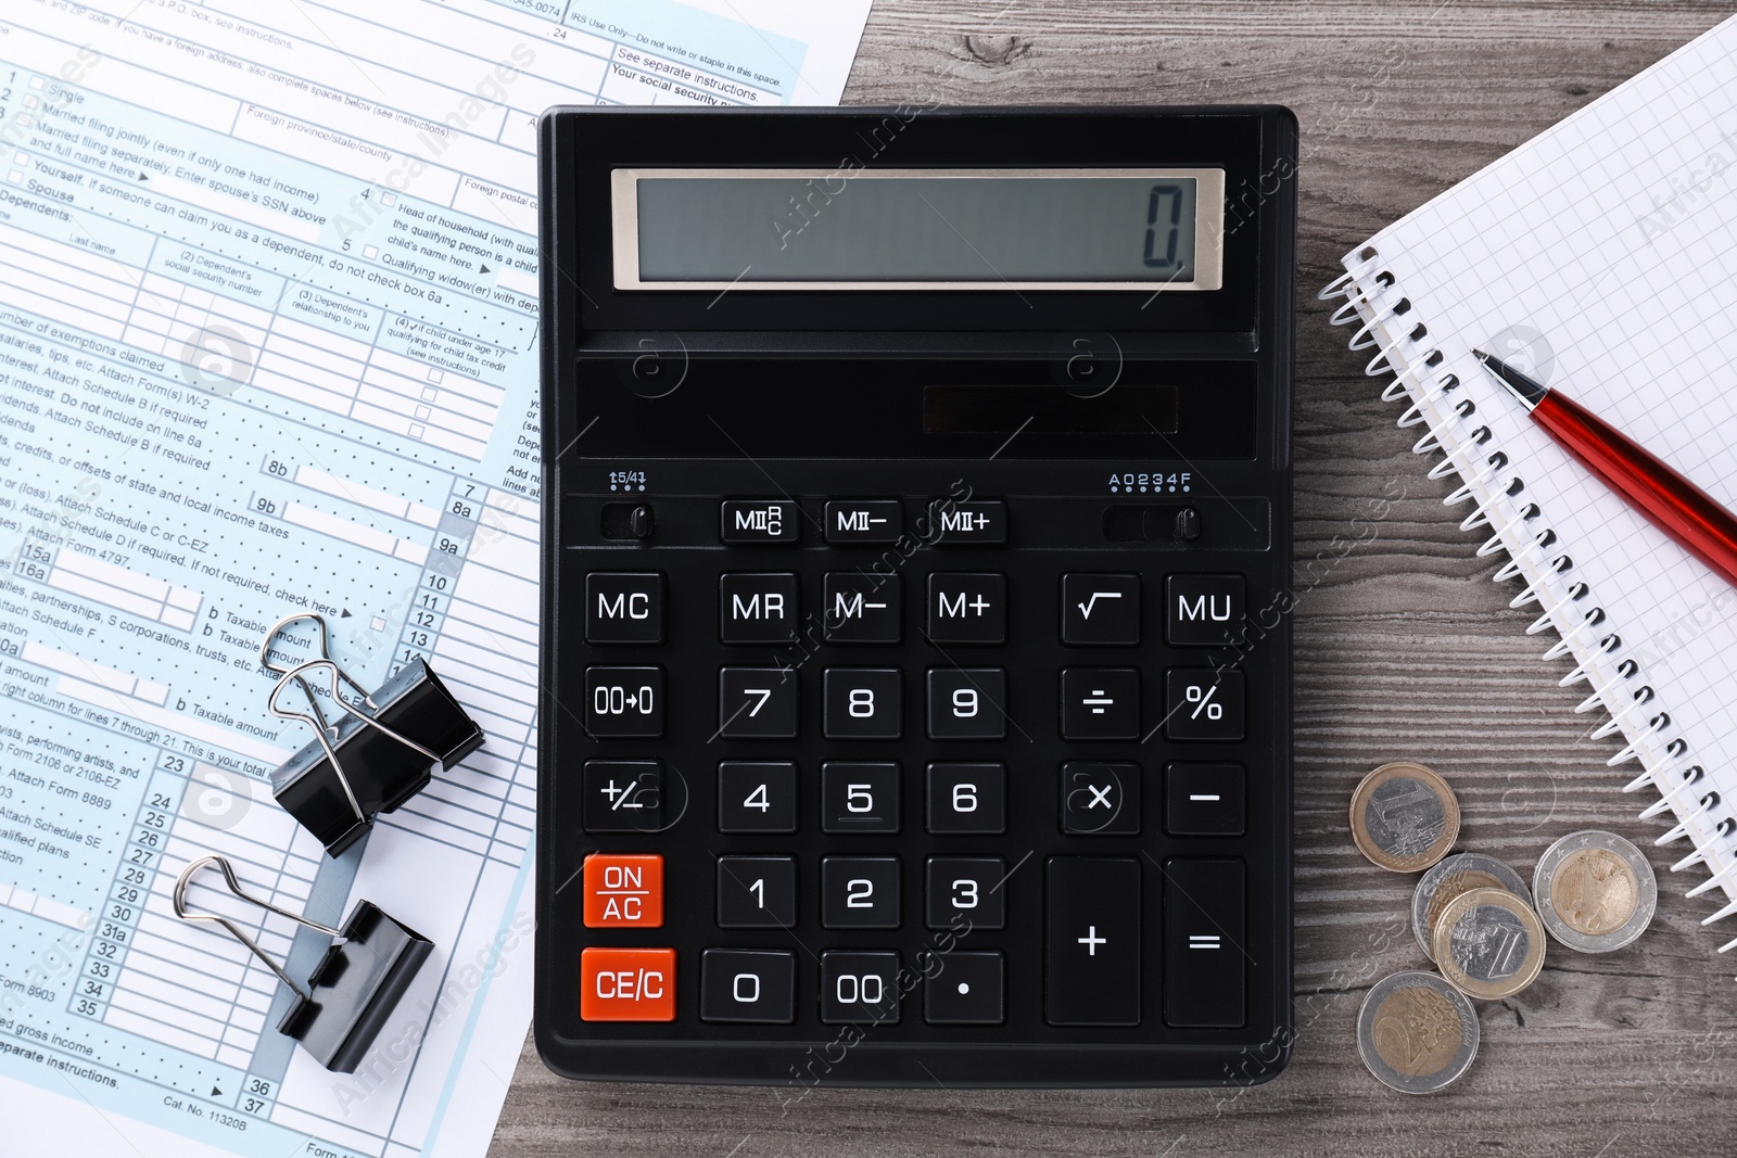
<instances>
[{"instance_id":1,"label":"white spiral-bound notebook with grid pages, beneath the red pen","mask_svg":"<svg viewBox=\"0 0 1737 1158\"><path fill-rule=\"evenodd\" d=\"M1737 589L1534 427L1471 351L1584 403L1737 509L1737 17L1344 257L1353 349L1506 552L1563 684L1622 738L1659 844L1737 913ZM1669 816L1668 816L1669 814ZM1730 941L1721 951L1737 946Z\"/></svg>"}]
</instances>

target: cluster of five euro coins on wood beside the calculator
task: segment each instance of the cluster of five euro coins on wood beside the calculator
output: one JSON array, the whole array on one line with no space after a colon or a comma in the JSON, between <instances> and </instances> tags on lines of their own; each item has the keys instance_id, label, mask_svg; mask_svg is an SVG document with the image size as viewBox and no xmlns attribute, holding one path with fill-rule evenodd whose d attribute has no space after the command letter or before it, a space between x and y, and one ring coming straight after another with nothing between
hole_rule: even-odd
<instances>
[{"instance_id":1,"label":"cluster of five euro coins on wood beside the calculator","mask_svg":"<svg viewBox=\"0 0 1737 1158\"><path fill-rule=\"evenodd\" d=\"M1351 793L1358 851L1388 872L1423 873L1412 934L1440 972L1384 977L1357 1014L1364 1066L1405 1094L1435 1094L1471 1068L1478 1016L1468 998L1503 1000L1532 984L1546 931L1570 950L1610 953L1659 906L1652 865L1615 833L1575 832L1549 845L1530 891L1492 856L1447 856L1457 839L1459 800L1423 764L1383 764Z\"/></svg>"}]
</instances>

